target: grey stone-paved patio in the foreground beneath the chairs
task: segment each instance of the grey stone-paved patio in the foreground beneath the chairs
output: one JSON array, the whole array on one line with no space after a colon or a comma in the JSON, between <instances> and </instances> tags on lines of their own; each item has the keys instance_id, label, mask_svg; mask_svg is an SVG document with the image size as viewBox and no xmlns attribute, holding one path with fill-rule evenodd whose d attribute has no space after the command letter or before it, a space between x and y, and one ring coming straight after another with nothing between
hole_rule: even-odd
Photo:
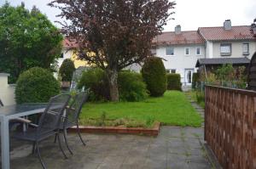
<instances>
[{"instance_id":1,"label":"grey stone-paved patio in the foreground beneath the chairs","mask_svg":"<svg viewBox=\"0 0 256 169\"><path fill-rule=\"evenodd\" d=\"M68 133L68 137L74 155L65 149L67 160L64 160L57 144L53 143L54 138L41 144L42 157L49 169L212 168L201 146L202 128L161 127L156 138L84 133L84 140L87 141L85 147L77 135ZM31 144L17 144L14 141L12 145L11 168L42 168L37 155L31 155Z\"/></svg>"}]
</instances>

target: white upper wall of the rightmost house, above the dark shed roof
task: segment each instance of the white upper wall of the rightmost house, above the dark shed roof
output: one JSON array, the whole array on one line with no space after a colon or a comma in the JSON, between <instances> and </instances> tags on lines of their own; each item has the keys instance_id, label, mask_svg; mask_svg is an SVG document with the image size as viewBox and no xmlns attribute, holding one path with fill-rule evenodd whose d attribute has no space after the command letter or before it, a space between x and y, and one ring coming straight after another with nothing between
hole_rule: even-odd
<instances>
[{"instance_id":1,"label":"white upper wall of the rightmost house, above the dark shed roof","mask_svg":"<svg viewBox=\"0 0 256 169\"><path fill-rule=\"evenodd\" d=\"M220 44L221 43L231 43L231 55L230 56L221 56L220 54ZM212 56L213 58L241 58L245 57L242 55L242 43L249 43L249 55L247 58L251 59L253 54L256 52L256 42L250 42L250 41L226 41L226 42L213 42L213 51ZM207 55L207 58L210 58L209 55Z\"/></svg>"}]
</instances>

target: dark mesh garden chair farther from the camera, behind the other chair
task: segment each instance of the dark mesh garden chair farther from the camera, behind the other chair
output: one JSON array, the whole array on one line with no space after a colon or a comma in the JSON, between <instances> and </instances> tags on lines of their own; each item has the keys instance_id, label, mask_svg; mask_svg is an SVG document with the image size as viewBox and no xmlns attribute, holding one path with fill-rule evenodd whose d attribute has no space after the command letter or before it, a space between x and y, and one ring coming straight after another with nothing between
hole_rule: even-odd
<instances>
[{"instance_id":1,"label":"dark mesh garden chair farther from the camera, behind the other chair","mask_svg":"<svg viewBox=\"0 0 256 169\"><path fill-rule=\"evenodd\" d=\"M67 146L68 151L70 154L73 155L72 150L69 148L67 144L67 129L71 127L77 127L77 133L79 135L79 138L82 142L82 144L85 146L84 140L81 137L81 133L79 130L79 115L81 113L82 107L89 96L89 89L77 94L75 98L73 99L73 102L70 106L66 109L66 115L64 115L62 118L63 120L60 123L59 129L63 131L65 144ZM55 135L55 141L56 141L57 135Z\"/></svg>"}]
</instances>

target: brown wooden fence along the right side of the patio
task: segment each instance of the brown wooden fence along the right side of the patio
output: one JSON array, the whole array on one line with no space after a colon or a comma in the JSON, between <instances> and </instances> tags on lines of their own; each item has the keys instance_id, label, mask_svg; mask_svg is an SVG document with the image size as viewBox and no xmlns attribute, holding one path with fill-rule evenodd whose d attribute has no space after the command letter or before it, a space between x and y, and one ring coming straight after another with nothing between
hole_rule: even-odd
<instances>
[{"instance_id":1,"label":"brown wooden fence along the right side of the patio","mask_svg":"<svg viewBox=\"0 0 256 169\"><path fill-rule=\"evenodd\" d=\"M224 168L256 168L256 93L205 87L205 140Z\"/></svg>"}]
</instances>

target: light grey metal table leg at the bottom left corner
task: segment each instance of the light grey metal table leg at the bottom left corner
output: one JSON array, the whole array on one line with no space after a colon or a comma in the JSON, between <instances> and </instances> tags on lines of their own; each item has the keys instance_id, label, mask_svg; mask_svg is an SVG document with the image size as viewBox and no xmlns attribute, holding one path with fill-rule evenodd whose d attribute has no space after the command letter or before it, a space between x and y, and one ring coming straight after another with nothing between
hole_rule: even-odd
<instances>
[{"instance_id":1,"label":"light grey metal table leg at the bottom left corner","mask_svg":"<svg viewBox=\"0 0 256 169\"><path fill-rule=\"evenodd\" d=\"M9 169L9 119L1 118L2 169Z\"/></svg>"}]
</instances>

